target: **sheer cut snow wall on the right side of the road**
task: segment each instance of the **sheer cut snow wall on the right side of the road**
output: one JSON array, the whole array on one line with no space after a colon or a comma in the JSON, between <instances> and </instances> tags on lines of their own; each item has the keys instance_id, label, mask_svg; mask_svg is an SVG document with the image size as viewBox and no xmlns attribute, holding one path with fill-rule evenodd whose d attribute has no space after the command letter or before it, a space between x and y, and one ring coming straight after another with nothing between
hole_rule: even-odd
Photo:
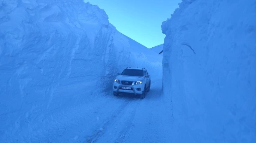
<instances>
[{"instance_id":1,"label":"sheer cut snow wall on the right side of the road","mask_svg":"<svg viewBox=\"0 0 256 143\"><path fill-rule=\"evenodd\" d=\"M255 0L182 0L163 22L173 142L256 142L255 18Z\"/></svg>"}]
</instances>

